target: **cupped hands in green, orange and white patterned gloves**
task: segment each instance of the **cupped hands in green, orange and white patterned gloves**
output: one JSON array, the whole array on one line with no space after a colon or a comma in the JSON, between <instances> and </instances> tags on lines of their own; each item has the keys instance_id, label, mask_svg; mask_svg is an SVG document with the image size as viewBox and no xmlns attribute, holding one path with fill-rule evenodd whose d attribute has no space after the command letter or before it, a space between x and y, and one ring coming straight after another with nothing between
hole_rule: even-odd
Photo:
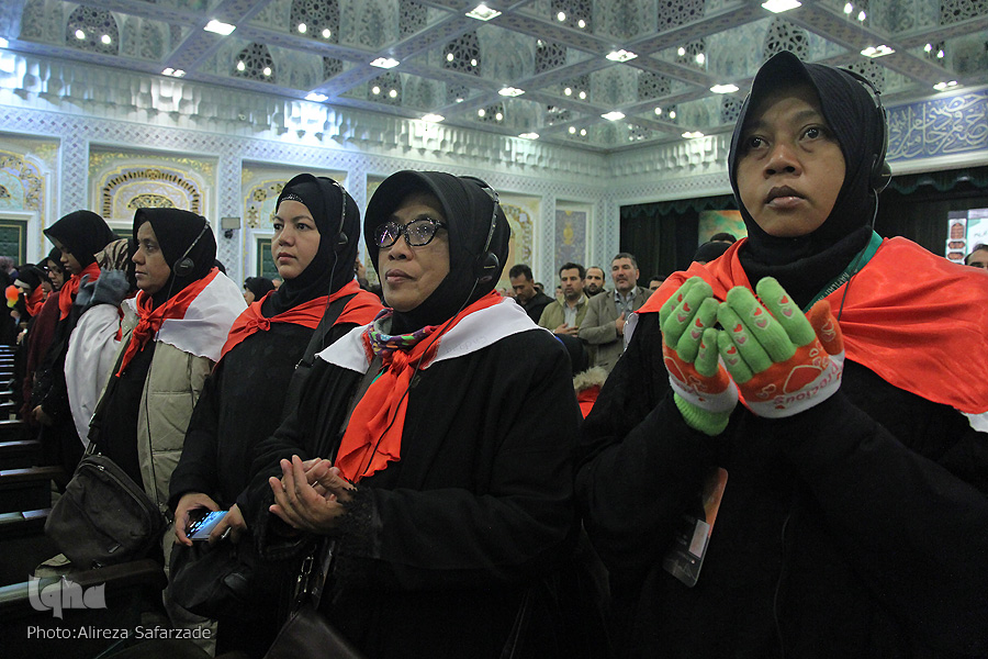
<instances>
[{"instance_id":1,"label":"cupped hands in green, orange and white patterned gloves","mask_svg":"<svg viewBox=\"0 0 988 659\"><path fill-rule=\"evenodd\" d=\"M808 314L765 277L717 302L710 286L688 279L659 312L662 354L676 406L691 427L717 435L738 403L757 416L791 416L840 387L844 347L826 300ZM719 323L721 328L715 327Z\"/></svg>"}]
</instances>

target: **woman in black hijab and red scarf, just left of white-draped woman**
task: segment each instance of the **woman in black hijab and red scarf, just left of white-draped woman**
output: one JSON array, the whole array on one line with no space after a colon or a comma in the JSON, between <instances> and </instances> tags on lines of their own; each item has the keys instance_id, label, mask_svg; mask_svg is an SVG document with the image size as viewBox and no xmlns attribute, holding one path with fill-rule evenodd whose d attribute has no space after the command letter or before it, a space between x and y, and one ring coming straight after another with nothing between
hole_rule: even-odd
<instances>
[{"instance_id":1,"label":"woman in black hijab and red scarf, just left of white-draped woman","mask_svg":"<svg viewBox=\"0 0 988 659\"><path fill-rule=\"evenodd\" d=\"M52 343L37 368L31 394L32 416L42 426L38 435L45 450L46 463L61 465L65 477L56 482L64 487L82 457L83 444L76 432L65 382L65 356L76 326L72 302L83 278L94 281L100 276L96 254L116 236L103 219L90 211L76 211L61 217L44 231L45 236L61 252L61 265L70 275L58 291L58 321Z\"/></svg>"}]
</instances>

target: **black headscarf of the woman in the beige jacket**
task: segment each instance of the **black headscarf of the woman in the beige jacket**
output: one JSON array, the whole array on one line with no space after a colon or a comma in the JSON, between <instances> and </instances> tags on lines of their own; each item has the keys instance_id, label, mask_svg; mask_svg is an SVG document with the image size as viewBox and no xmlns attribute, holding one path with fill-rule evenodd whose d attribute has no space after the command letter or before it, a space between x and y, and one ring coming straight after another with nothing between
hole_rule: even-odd
<instances>
[{"instance_id":1,"label":"black headscarf of the woman in the beige jacket","mask_svg":"<svg viewBox=\"0 0 988 659\"><path fill-rule=\"evenodd\" d=\"M145 222L150 222L155 238L165 256L165 263L171 268L171 276L160 291L151 299L155 306L198 281L213 269L216 258L216 238L209 223L202 215L179 209L137 209L134 213L134 243L137 243L137 230ZM189 249L191 247L191 249ZM188 254L186 254L188 252ZM188 275L177 276L175 267L179 260L192 260L192 269Z\"/></svg>"}]
</instances>

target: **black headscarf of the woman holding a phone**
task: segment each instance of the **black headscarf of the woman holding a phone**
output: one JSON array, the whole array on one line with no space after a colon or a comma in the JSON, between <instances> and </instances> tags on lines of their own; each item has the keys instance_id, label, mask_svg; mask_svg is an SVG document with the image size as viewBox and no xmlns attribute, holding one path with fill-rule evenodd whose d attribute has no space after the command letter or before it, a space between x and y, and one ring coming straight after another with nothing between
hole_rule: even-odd
<instances>
[{"instance_id":1,"label":"black headscarf of the woman holding a phone","mask_svg":"<svg viewBox=\"0 0 988 659\"><path fill-rule=\"evenodd\" d=\"M346 198L346 213L340 231L340 211ZM357 233L360 231L360 209L343 186L325 177L300 174L278 196L278 204L292 199L305 205L319 230L319 250L308 267L293 279L285 279L261 306L261 314L271 317L293 306L322 295L335 293L353 280L357 263ZM343 234L343 235L340 235Z\"/></svg>"}]
</instances>

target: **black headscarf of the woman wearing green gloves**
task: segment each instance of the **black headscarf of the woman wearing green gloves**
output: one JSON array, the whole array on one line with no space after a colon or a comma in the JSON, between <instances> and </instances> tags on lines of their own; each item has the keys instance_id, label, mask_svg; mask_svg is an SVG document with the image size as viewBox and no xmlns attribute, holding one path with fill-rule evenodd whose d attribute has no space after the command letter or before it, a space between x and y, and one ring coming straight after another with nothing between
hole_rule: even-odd
<instances>
[{"instance_id":1,"label":"black headscarf of the woman wearing green gloves","mask_svg":"<svg viewBox=\"0 0 988 659\"><path fill-rule=\"evenodd\" d=\"M820 99L823 118L844 156L844 183L833 210L816 231L797 237L770 236L744 208L738 190L740 138L749 113L782 87L808 83ZM876 200L872 199L871 170L877 145L885 134L882 115L867 89L850 74L820 64L804 64L793 53L783 52L759 69L751 93L731 136L728 168L734 199L748 227L748 243L739 253L752 284L766 276L805 304L839 276L864 249L871 237Z\"/></svg>"}]
</instances>

